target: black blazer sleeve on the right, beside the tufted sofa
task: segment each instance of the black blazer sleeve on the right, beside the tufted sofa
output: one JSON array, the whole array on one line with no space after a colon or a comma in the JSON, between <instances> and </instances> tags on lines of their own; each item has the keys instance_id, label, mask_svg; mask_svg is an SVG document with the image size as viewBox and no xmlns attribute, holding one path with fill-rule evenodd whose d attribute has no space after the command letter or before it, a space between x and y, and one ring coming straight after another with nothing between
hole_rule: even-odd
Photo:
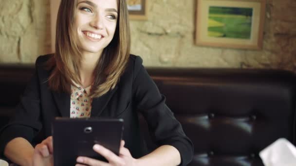
<instances>
[{"instance_id":1,"label":"black blazer sleeve on the right, beside the tufted sofa","mask_svg":"<svg viewBox=\"0 0 296 166\"><path fill-rule=\"evenodd\" d=\"M133 94L137 110L147 121L152 141L158 146L171 145L178 149L182 159L181 166L186 166L192 160L193 144L166 106L166 98L160 94L138 56L134 64Z\"/></svg>"}]
</instances>

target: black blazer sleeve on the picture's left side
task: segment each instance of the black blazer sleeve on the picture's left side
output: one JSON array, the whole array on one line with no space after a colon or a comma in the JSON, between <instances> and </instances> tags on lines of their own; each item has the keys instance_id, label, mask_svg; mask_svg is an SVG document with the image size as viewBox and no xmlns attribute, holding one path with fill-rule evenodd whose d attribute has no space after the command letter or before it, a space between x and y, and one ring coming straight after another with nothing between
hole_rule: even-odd
<instances>
[{"instance_id":1,"label":"black blazer sleeve on the picture's left side","mask_svg":"<svg viewBox=\"0 0 296 166\"><path fill-rule=\"evenodd\" d=\"M38 61L38 60L37 60ZM37 64L38 62L36 62ZM7 143L14 138L22 137L32 142L34 136L40 131L42 125L40 115L40 92L39 82L36 73L28 83L19 105L16 107L16 114L7 125L0 130L0 154L3 156Z\"/></svg>"}]
</instances>

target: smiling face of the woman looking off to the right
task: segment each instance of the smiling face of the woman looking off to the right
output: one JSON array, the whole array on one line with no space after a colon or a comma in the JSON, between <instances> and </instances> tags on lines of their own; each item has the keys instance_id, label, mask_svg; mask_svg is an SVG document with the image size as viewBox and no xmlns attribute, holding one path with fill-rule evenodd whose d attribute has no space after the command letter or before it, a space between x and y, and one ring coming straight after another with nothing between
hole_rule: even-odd
<instances>
[{"instance_id":1,"label":"smiling face of the woman looking off to the right","mask_svg":"<svg viewBox=\"0 0 296 166\"><path fill-rule=\"evenodd\" d=\"M117 0L78 0L74 27L82 53L99 53L111 42L118 17Z\"/></svg>"}]
</instances>

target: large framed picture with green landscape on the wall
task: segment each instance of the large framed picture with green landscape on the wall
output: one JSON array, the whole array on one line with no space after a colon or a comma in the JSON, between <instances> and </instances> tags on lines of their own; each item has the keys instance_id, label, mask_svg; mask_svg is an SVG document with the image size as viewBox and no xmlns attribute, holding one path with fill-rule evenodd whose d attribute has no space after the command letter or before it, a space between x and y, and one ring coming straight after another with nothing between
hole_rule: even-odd
<instances>
[{"instance_id":1,"label":"large framed picture with green landscape on the wall","mask_svg":"<svg viewBox=\"0 0 296 166\"><path fill-rule=\"evenodd\" d=\"M266 0L198 0L195 43L262 49Z\"/></svg>"}]
</instances>

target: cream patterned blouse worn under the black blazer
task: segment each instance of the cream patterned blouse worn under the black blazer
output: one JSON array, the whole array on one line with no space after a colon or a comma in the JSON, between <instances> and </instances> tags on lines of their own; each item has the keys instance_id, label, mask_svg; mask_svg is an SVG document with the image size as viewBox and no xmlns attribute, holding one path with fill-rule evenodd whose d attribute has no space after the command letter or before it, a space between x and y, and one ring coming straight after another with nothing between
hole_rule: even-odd
<instances>
[{"instance_id":1,"label":"cream patterned blouse worn under the black blazer","mask_svg":"<svg viewBox=\"0 0 296 166\"><path fill-rule=\"evenodd\" d=\"M74 83L71 85L71 103L70 103L70 117L82 118L90 117L92 111L92 98L90 94L91 86L83 88L81 85Z\"/></svg>"}]
</instances>

